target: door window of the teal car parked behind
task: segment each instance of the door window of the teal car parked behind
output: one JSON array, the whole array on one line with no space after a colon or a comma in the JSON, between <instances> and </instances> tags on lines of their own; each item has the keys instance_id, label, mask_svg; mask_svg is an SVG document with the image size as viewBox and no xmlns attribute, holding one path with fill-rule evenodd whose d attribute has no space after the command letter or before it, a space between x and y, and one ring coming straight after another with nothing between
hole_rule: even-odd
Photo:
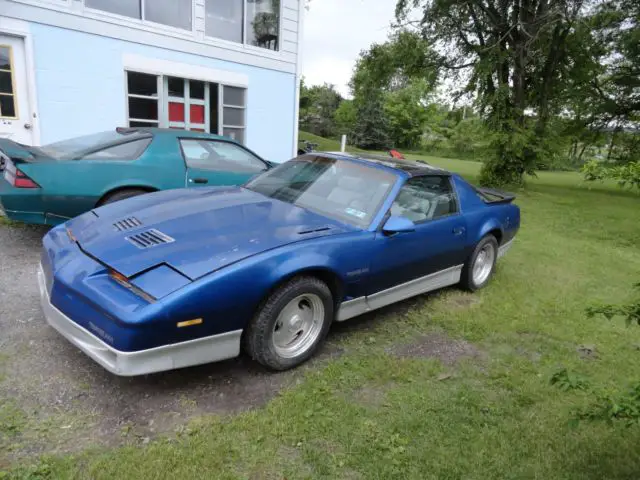
<instances>
[{"instance_id":1,"label":"door window of the teal car parked behind","mask_svg":"<svg viewBox=\"0 0 640 480\"><path fill-rule=\"evenodd\" d=\"M259 173L267 170L262 160L234 143L181 139L180 146L189 168L241 173Z\"/></svg>"}]
</instances>

